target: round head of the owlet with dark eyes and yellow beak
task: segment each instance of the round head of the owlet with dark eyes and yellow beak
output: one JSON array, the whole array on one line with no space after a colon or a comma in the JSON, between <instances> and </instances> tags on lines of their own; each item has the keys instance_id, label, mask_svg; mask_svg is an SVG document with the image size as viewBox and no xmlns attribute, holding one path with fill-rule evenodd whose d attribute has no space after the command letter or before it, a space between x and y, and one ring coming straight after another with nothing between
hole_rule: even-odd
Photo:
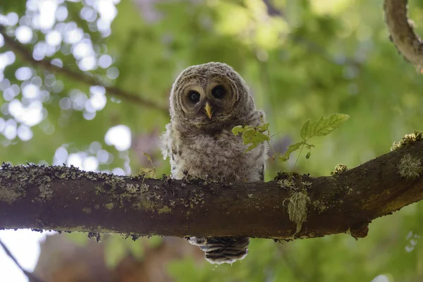
<instances>
[{"instance_id":1,"label":"round head of the owlet with dark eyes and yellow beak","mask_svg":"<svg viewBox=\"0 0 423 282\"><path fill-rule=\"evenodd\" d=\"M255 105L241 76L226 63L186 68L173 83L171 118L185 126L242 125Z\"/></svg>"}]
</instances>

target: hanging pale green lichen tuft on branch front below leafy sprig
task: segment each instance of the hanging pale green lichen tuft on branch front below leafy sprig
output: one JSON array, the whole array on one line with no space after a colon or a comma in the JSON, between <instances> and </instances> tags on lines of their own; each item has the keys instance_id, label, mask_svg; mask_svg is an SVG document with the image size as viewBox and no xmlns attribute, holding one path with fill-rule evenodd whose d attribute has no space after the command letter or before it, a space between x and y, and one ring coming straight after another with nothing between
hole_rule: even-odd
<instances>
[{"instance_id":1,"label":"hanging pale green lichen tuft on branch front below leafy sprig","mask_svg":"<svg viewBox=\"0 0 423 282\"><path fill-rule=\"evenodd\" d=\"M289 220L297 224L297 229L293 237L301 231L302 223L307 220L307 204L310 202L310 198L305 190L294 192L293 195L284 200L283 204L288 201L288 215Z\"/></svg>"}]
</instances>

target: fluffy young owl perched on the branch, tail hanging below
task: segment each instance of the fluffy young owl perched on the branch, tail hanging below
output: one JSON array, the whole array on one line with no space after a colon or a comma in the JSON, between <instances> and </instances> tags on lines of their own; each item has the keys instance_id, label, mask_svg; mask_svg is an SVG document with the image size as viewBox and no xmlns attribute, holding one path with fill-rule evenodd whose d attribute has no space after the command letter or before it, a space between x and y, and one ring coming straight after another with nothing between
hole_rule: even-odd
<instances>
[{"instance_id":1,"label":"fluffy young owl perched on the branch, tail hanging below","mask_svg":"<svg viewBox=\"0 0 423 282\"><path fill-rule=\"evenodd\" d=\"M257 126L264 120L243 78L225 63L190 66L173 83L171 123L162 135L164 159L172 178L212 181L264 181L264 144L244 152L236 125ZM247 237L190 237L212 264L233 263L248 253Z\"/></svg>"}]
</instances>

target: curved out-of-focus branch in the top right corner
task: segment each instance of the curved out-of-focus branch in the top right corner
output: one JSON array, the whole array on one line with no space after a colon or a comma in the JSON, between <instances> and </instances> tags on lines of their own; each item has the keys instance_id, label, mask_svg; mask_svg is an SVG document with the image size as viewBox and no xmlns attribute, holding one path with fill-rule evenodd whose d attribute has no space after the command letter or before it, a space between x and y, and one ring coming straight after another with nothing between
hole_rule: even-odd
<instances>
[{"instance_id":1,"label":"curved out-of-focus branch in the top right corner","mask_svg":"<svg viewBox=\"0 0 423 282\"><path fill-rule=\"evenodd\" d=\"M384 10L393 44L407 61L423 68L423 42L407 18L407 0L385 0Z\"/></svg>"}]
</instances>

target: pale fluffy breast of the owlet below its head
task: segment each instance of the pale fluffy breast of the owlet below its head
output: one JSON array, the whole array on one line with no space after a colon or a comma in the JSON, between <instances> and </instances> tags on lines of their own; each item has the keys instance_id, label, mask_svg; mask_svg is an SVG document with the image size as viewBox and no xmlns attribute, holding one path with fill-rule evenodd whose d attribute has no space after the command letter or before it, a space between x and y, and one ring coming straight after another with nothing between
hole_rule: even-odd
<instances>
[{"instance_id":1,"label":"pale fluffy breast of the owlet below its head","mask_svg":"<svg viewBox=\"0 0 423 282\"><path fill-rule=\"evenodd\" d=\"M229 130L219 135L178 136L173 140L172 176L182 179L185 175L220 181L258 181L262 179L264 145L249 152L240 136Z\"/></svg>"}]
</instances>

